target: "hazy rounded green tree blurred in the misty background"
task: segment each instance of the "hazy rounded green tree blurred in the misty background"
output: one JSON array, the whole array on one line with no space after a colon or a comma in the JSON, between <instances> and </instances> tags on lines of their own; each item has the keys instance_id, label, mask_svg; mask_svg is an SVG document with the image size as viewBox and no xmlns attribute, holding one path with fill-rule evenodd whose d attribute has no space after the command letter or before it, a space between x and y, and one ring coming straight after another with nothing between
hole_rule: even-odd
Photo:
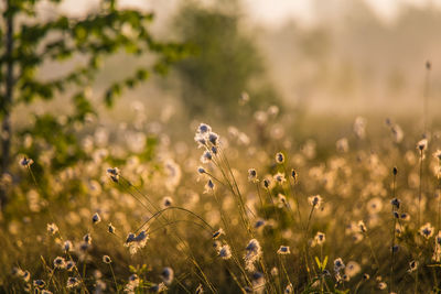
<instances>
[{"instance_id":1,"label":"hazy rounded green tree blurred in the misty background","mask_svg":"<svg viewBox=\"0 0 441 294\"><path fill-rule=\"evenodd\" d=\"M251 97L251 110L262 104L278 102L275 88L266 79L258 50L252 39L240 30L239 21L236 0L222 1L209 8L190 1L179 11L176 31L196 51L176 65L190 115L237 118L243 91Z\"/></svg>"}]
</instances>

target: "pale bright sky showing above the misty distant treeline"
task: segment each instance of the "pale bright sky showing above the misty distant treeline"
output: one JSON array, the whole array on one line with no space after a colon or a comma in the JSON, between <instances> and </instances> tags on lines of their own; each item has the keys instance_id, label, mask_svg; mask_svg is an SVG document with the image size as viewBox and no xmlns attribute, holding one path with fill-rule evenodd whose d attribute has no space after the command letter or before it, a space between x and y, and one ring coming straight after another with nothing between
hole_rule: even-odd
<instances>
[{"instance_id":1,"label":"pale bright sky showing above the misty distant treeline","mask_svg":"<svg viewBox=\"0 0 441 294\"><path fill-rule=\"evenodd\" d=\"M204 1L204 0L202 0ZM209 0L205 0L209 1ZM325 3L327 0L243 0L251 19L269 26L278 26L289 19L295 19L303 24L314 22L314 4ZM423 7L434 4L441 7L441 0L335 0L338 6L346 1L365 1L384 20L392 21L398 14L399 4ZM65 0L63 11L72 14L82 14L99 0ZM135 6L152 9L158 13L173 11L180 0L120 0L122 6ZM169 13L168 13L169 14ZM161 15L160 15L161 17Z\"/></svg>"}]
</instances>

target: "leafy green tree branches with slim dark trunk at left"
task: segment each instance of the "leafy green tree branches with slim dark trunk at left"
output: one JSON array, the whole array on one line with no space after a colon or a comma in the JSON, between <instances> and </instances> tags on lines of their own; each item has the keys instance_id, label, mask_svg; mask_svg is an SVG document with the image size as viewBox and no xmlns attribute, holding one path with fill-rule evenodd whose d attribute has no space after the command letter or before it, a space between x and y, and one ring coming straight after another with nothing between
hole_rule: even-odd
<instances>
[{"instance_id":1,"label":"leafy green tree branches with slim dark trunk at left","mask_svg":"<svg viewBox=\"0 0 441 294\"><path fill-rule=\"evenodd\" d=\"M60 123L56 116L35 116L35 123L28 133L47 139L63 161L68 162L80 151L75 139L65 131L66 126L84 121L87 113L95 113L88 100L87 85L98 73L100 58L123 48L128 54L157 54L152 66L141 66L123 80L111 83L104 101L111 106L115 97L125 88L132 88L149 77L151 70L164 74L171 63L186 54L186 46L178 43L159 43L150 34L147 24L152 13L117 9L117 0L103 0L99 9L80 19L57 15L41 20L36 6L43 0L6 0L0 20L0 118L1 173L9 173L11 159L11 112L19 104L52 99L56 94L72 94L74 113L67 122ZM50 1L57 6L61 0ZM4 32L3 32L4 30ZM65 75L43 80L36 75L47 61L63 61L79 56L83 62ZM77 89L77 90L75 90ZM60 162L58 162L60 164ZM0 190L0 205L7 202L7 193Z\"/></svg>"}]
</instances>

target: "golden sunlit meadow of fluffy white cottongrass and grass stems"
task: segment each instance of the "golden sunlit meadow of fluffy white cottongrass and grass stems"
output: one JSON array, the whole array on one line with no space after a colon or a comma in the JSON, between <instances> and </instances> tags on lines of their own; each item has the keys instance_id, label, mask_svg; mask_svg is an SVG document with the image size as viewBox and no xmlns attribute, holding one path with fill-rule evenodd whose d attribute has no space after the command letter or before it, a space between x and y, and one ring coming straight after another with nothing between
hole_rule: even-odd
<instances>
[{"instance_id":1,"label":"golden sunlit meadow of fluffy white cottongrass and grass stems","mask_svg":"<svg viewBox=\"0 0 441 294\"><path fill-rule=\"evenodd\" d=\"M316 143L279 116L194 122L180 142L159 122L89 122L87 156L56 173L50 145L18 155L2 291L437 293L440 130L370 134L357 117Z\"/></svg>"}]
</instances>

